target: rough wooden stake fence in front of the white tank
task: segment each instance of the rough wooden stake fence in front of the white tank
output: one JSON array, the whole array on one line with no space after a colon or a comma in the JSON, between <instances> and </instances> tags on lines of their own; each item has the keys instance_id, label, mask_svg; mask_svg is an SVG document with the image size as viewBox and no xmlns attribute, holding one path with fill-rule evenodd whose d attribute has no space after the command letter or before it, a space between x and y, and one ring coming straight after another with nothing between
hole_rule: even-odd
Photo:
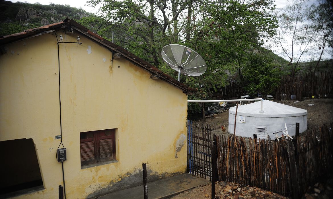
<instances>
[{"instance_id":1,"label":"rough wooden stake fence in front of the white tank","mask_svg":"<svg viewBox=\"0 0 333 199\"><path fill-rule=\"evenodd\" d=\"M290 139L257 144L252 138L217 136L218 179L299 198L332 170L332 126L297 137L295 146Z\"/></svg>"}]
</instances>

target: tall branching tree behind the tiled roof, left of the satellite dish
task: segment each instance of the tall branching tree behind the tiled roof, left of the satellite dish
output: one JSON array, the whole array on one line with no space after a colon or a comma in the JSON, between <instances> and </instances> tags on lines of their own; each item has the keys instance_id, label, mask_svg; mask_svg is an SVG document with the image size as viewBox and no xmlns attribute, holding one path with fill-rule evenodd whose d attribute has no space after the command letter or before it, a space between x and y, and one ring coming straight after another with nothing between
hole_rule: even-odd
<instances>
[{"instance_id":1,"label":"tall branching tree behind the tiled roof, left of the satellite dish","mask_svg":"<svg viewBox=\"0 0 333 199\"><path fill-rule=\"evenodd\" d=\"M161 63L162 47L178 42L179 23L184 21L183 16L186 15L188 5L192 3L191 0L88 2L92 6L102 5L101 15L112 23L115 31L123 33L123 41L130 46L131 52L138 56L143 55L143 58L156 66Z\"/></svg>"}]
</instances>

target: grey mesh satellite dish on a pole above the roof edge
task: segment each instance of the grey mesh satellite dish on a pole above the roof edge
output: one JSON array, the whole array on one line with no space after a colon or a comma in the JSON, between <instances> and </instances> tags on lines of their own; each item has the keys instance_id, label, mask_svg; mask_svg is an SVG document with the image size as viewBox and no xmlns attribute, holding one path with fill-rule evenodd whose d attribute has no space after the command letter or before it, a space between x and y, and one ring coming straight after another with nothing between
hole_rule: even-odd
<instances>
[{"instance_id":1,"label":"grey mesh satellite dish on a pole above the roof edge","mask_svg":"<svg viewBox=\"0 0 333 199\"><path fill-rule=\"evenodd\" d=\"M162 58L169 67L187 76L200 76L206 71L206 63L195 51L179 44L169 44L162 49Z\"/></svg>"}]
</instances>

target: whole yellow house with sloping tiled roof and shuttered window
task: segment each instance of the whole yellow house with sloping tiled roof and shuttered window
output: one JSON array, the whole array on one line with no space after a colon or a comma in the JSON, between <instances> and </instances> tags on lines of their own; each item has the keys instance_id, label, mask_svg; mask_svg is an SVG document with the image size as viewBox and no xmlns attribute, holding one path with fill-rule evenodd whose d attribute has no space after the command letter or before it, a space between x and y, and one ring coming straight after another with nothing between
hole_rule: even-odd
<instances>
[{"instance_id":1,"label":"whole yellow house with sloping tiled roof and shuttered window","mask_svg":"<svg viewBox=\"0 0 333 199\"><path fill-rule=\"evenodd\" d=\"M68 19L0 51L0 197L94 197L142 183L142 163L150 181L185 172L194 89Z\"/></svg>"}]
</instances>

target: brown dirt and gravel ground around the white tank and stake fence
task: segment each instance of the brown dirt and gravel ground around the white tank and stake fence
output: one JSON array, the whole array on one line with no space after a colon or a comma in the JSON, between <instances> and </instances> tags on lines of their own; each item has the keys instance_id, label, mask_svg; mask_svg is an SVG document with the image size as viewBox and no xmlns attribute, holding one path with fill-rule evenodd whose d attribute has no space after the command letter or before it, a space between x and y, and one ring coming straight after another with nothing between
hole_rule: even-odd
<instances>
[{"instance_id":1,"label":"brown dirt and gravel ground around the white tank and stake fence","mask_svg":"<svg viewBox=\"0 0 333 199\"><path fill-rule=\"evenodd\" d=\"M302 108L308 111L308 129L307 131L311 131L312 129L318 129L323 124L330 124L333 122L333 99L308 99L308 100L281 100L277 101L279 103L287 104L290 106L295 106L297 108ZM199 123L203 122L203 120L199 120ZM224 111L215 115L206 116L206 123L210 124L212 133L217 135L228 133L228 111ZM225 126L226 131L223 132L221 126ZM333 182L329 183L329 186L332 187ZM326 186L326 185L325 185ZM327 185L328 186L328 185ZM240 188L240 189L239 189ZM330 188L330 190L332 190ZM324 191L322 191L324 192ZM215 198L223 198L223 199L243 199L243 198L286 198L284 196L278 195L276 193L261 190L257 187L249 187L245 185L240 185L237 183L231 182L216 182L215 184ZM309 193L305 195L304 198L326 198L325 196L321 196L320 194L317 197L314 195L315 193ZM331 192L330 192L331 194ZM330 195L329 194L329 195ZM211 198L211 183L208 183L204 186L196 187L185 191L181 194L171 197L172 199L204 199ZM330 198L330 197L328 197Z\"/></svg>"}]
</instances>

